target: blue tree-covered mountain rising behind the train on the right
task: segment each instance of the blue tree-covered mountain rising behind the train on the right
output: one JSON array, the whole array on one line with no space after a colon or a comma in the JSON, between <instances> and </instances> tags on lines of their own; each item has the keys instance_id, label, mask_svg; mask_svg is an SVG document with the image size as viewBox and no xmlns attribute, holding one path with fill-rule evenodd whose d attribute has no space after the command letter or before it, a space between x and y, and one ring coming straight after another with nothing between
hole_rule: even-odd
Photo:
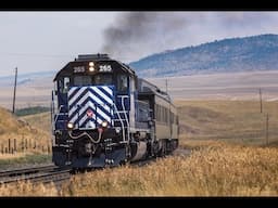
<instances>
[{"instance_id":1,"label":"blue tree-covered mountain rising behind the train on the right","mask_svg":"<svg viewBox=\"0 0 278 208\"><path fill-rule=\"evenodd\" d=\"M215 40L130 63L141 77L278 69L278 35Z\"/></svg>"}]
</instances>

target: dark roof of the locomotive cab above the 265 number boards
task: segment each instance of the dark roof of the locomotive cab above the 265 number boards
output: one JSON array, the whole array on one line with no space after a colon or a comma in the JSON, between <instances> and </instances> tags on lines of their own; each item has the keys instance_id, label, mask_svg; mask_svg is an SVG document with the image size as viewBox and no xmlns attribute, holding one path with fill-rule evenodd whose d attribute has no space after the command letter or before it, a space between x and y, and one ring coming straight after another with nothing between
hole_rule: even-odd
<instances>
[{"instance_id":1,"label":"dark roof of the locomotive cab above the 265 number boards","mask_svg":"<svg viewBox=\"0 0 278 208\"><path fill-rule=\"evenodd\" d=\"M81 54L81 55L78 55L77 58L75 58L74 61L72 62L68 62L61 70L59 70L55 75L55 78L53 81L56 80L56 78L60 76L60 74L62 72L66 72L67 70L67 66L72 63L76 63L76 62L96 62L96 61L114 61L114 62L117 62L121 66L122 66L122 69L124 69L126 73L130 74L130 75L136 75L135 74L135 70L132 68L130 68L128 65L117 61L117 60L113 60L111 57L109 57L108 54Z\"/></svg>"}]
</instances>

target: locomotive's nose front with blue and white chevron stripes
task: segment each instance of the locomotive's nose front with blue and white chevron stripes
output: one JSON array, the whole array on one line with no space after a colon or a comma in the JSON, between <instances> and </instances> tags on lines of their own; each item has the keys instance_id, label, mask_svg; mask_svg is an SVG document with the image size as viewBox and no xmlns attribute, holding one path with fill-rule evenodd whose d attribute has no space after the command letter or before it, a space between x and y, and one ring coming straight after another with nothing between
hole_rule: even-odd
<instances>
[{"instance_id":1,"label":"locomotive's nose front with blue and white chevron stripes","mask_svg":"<svg viewBox=\"0 0 278 208\"><path fill-rule=\"evenodd\" d=\"M113 86L73 87L68 91L68 120L74 129L113 126Z\"/></svg>"}]
</instances>

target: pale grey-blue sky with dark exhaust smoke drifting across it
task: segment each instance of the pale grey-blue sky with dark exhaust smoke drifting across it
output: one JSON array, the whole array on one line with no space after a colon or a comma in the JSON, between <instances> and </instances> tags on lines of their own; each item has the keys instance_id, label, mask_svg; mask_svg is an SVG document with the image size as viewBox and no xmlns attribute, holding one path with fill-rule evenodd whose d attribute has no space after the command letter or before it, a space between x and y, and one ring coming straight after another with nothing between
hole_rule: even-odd
<instances>
[{"instance_id":1,"label":"pale grey-blue sky with dark exhaust smoke drifting across it","mask_svg":"<svg viewBox=\"0 0 278 208\"><path fill-rule=\"evenodd\" d=\"M15 67L21 74L59 70L78 54L109 52L128 63L216 39L278 34L278 12L134 14L0 12L0 77L13 75Z\"/></svg>"}]
</instances>

